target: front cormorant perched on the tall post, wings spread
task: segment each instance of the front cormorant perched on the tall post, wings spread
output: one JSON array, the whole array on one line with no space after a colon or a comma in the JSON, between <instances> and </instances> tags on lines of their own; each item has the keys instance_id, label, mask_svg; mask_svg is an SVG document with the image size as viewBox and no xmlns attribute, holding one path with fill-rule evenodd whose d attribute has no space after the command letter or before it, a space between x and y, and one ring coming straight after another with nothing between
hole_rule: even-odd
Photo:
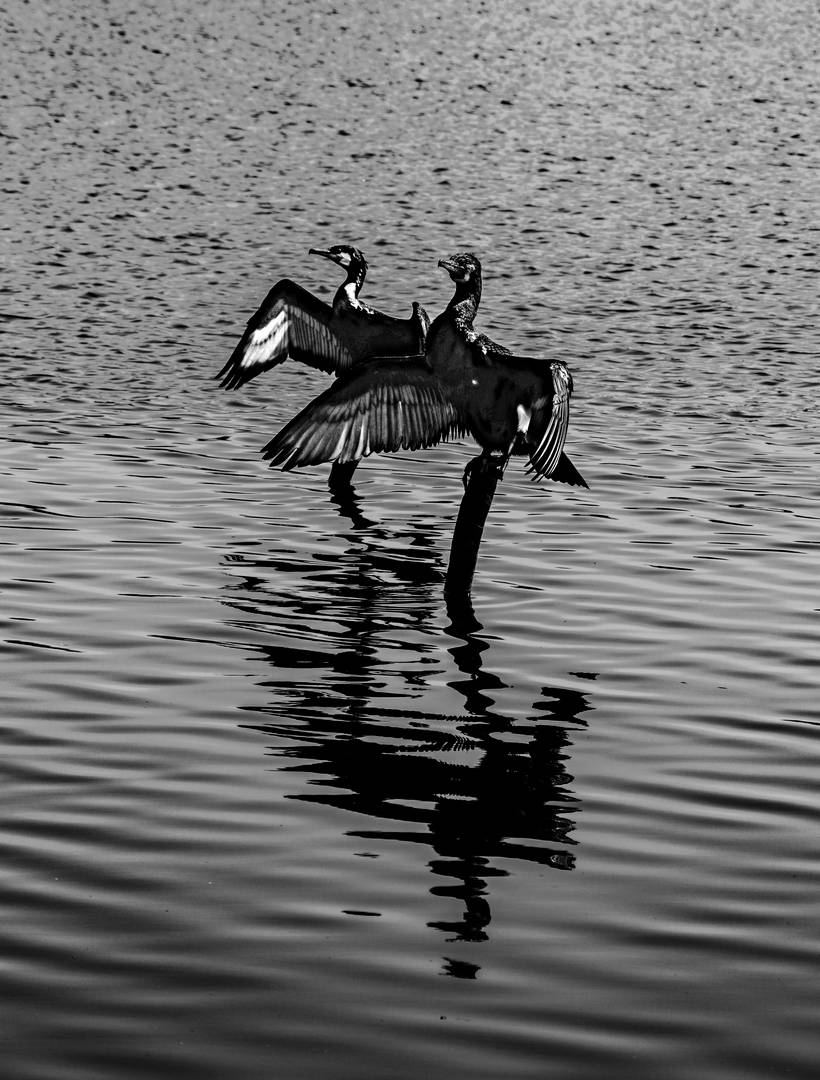
<instances>
[{"instance_id":1,"label":"front cormorant perched on the tall post, wings spread","mask_svg":"<svg viewBox=\"0 0 820 1080\"><path fill-rule=\"evenodd\" d=\"M425 351L360 364L338 378L264 449L272 465L354 462L374 453L420 449L465 432L482 447L470 462L526 454L534 478L587 487L564 454L573 377L561 361L515 356L473 329L481 264L442 259L456 291L433 321Z\"/></svg>"}]
</instances>

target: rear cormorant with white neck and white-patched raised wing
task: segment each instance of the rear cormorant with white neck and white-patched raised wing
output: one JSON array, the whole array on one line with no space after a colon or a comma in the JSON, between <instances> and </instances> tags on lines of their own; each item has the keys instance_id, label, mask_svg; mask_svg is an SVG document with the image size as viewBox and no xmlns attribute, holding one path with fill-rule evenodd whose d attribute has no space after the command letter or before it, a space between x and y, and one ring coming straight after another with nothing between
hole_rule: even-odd
<instances>
[{"instance_id":1,"label":"rear cormorant with white neck and white-patched raised wing","mask_svg":"<svg viewBox=\"0 0 820 1080\"><path fill-rule=\"evenodd\" d=\"M430 320L419 303L413 305L409 319L394 319L359 299L367 262L358 247L337 244L326 252L311 247L309 254L337 262L347 272L333 303L286 278L277 282L217 375L225 389L241 387L288 356L340 375L373 356L424 350Z\"/></svg>"}]
</instances>

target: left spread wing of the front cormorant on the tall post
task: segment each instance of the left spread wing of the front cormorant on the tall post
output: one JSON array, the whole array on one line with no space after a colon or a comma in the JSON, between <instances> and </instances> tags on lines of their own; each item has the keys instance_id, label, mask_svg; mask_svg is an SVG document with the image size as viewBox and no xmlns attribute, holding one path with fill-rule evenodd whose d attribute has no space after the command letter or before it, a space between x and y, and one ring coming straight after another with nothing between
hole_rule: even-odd
<instances>
[{"instance_id":1,"label":"left spread wing of the front cormorant on the tall post","mask_svg":"<svg viewBox=\"0 0 820 1080\"><path fill-rule=\"evenodd\" d=\"M297 469L418 450L461 430L424 356L379 357L338 378L263 450L271 465Z\"/></svg>"}]
</instances>

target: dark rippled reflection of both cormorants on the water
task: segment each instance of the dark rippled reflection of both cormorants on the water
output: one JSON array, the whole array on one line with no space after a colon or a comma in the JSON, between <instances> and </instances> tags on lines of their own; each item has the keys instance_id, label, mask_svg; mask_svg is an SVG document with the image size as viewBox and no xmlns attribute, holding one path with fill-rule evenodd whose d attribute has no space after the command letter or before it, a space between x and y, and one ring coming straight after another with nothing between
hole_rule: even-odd
<instances>
[{"instance_id":1,"label":"dark rippled reflection of both cormorants on the water","mask_svg":"<svg viewBox=\"0 0 820 1080\"><path fill-rule=\"evenodd\" d=\"M253 612L252 625L261 617L275 627L255 645L269 665L270 704L247 726L271 740L285 771L310 778L294 798L372 820L351 836L430 848L431 892L461 908L430 927L481 942L489 882L508 873L501 861L575 865L578 802L566 762L592 706L577 689L543 686L524 717L499 710L510 685L486 665L490 642L467 594L448 603L441 629L435 536L419 522L402 534L362 528L350 498L354 513L340 507L351 521L341 553L227 559L225 602ZM453 691L461 707L442 711L441 696ZM444 960L454 977L478 970Z\"/></svg>"}]
</instances>

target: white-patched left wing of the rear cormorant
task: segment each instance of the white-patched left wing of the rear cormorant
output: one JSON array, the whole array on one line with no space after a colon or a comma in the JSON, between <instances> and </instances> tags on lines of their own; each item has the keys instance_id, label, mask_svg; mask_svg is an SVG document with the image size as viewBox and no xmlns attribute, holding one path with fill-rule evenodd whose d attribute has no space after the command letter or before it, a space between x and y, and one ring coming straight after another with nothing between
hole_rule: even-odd
<instances>
[{"instance_id":1,"label":"white-patched left wing of the rear cormorant","mask_svg":"<svg viewBox=\"0 0 820 1080\"><path fill-rule=\"evenodd\" d=\"M239 345L217 375L233 390L288 356L322 372L344 372L352 364L347 346L331 327L333 309L286 278L268 293L251 318Z\"/></svg>"}]
</instances>

